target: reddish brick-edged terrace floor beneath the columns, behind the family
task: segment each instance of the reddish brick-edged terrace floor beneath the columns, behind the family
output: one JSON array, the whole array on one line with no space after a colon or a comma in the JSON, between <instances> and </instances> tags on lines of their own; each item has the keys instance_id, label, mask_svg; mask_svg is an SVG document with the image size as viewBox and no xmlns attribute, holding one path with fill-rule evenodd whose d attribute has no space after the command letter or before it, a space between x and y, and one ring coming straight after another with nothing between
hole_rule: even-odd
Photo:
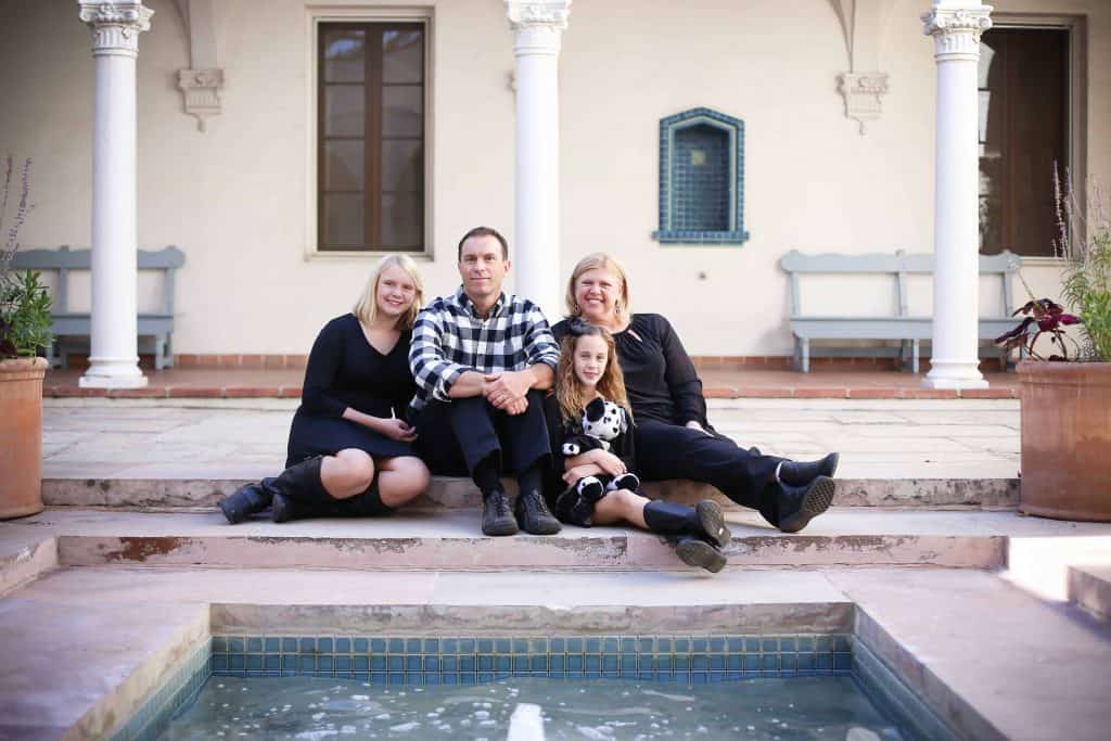
<instances>
[{"instance_id":1,"label":"reddish brick-edged terrace floor beneath the columns, behind the family","mask_svg":"<svg viewBox=\"0 0 1111 741\"><path fill-rule=\"evenodd\" d=\"M148 370L149 385L144 389L107 391L81 389L82 371L58 370L47 374L43 389L47 397L113 397L113 398L299 398L304 371L292 368L173 368ZM842 370L815 368L810 373L767 369L759 366L729 370L709 364L699 373L707 397L715 398L825 398L825 399L1012 399L1018 397L1017 373L988 373L990 388L965 391L922 388L919 373L874 370L874 367Z\"/></svg>"}]
</instances>

